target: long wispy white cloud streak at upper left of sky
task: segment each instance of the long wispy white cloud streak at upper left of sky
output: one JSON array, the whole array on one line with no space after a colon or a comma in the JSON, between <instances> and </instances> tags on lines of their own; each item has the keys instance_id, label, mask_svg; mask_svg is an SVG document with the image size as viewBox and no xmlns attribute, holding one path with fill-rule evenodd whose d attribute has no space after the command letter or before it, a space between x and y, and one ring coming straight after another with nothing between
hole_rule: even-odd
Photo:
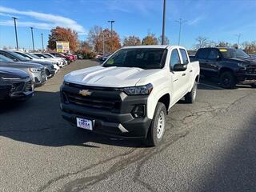
<instances>
[{"instance_id":1,"label":"long wispy white cloud streak at upper left of sky","mask_svg":"<svg viewBox=\"0 0 256 192\"><path fill-rule=\"evenodd\" d=\"M18 15L26 15L28 17L34 18L40 22L21 22L18 21L18 26L34 26L35 28L50 30L54 26L63 26L68 27L72 30L76 30L78 34L86 34L86 30L83 26L79 25L78 22L74 21L70 18L65 18L60 15L55 14L43 14L35 11L22 11L22 10L14 10L12 8L8 8L5 6L0 6L0 14L18 14ZM10 21L2 21L0 25L9 26ZM13 25L13 23L12 23Z\"/></svg>"}]
</instances>

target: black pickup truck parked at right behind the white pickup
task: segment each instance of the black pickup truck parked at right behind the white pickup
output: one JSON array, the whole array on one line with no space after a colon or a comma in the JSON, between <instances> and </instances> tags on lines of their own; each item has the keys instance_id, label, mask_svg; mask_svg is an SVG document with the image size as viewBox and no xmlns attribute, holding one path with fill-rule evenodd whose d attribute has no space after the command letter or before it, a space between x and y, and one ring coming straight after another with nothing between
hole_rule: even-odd
<instances>
[{"instance_id":1,"label":"black pickup truck parked at right behind the white pickup","mask_svg":"<svg viewBox=\"0 0 256 192\"><path fill-rule=\"evenodd\" d=\"M234 88L237 83L256 87L256 59L243 50L218 47L201 48L190 61L200 63L201 74L218 78L221 86Z\"/></svg>"}]
</instances>

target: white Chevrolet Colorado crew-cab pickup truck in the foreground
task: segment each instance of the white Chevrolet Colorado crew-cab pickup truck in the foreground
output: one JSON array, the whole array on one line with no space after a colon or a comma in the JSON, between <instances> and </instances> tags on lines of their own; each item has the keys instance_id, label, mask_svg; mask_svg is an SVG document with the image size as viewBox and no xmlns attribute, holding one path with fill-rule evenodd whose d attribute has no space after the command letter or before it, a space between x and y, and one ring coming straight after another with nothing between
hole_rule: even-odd
<instances>
[{"instance_id":1,"label":"white Chevrolet Colorado crew-cab pickup truck in the foreground","mask_svg":"<svg viewBox=\"0 0 256 192\"><path fill-rule=\"evenodd\" d=\"M194 102L199 71L182 46L123 47L101 66L66 74L62 117L78 128L158 146L171 106L183 97Z\"/></svg>"}]
</instances>

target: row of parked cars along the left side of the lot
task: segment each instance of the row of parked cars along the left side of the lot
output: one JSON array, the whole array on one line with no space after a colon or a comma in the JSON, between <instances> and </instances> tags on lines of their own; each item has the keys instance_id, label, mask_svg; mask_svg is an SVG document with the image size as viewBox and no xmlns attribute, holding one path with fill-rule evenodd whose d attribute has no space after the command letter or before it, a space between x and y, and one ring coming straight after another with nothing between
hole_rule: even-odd
<instances>
[{"instance_id":1,"label":"row of parked cars along the left side of the lot","mask_svg":"<svg viewBox=\"0 0 256 192\"><path fill-rule=\"evenodd\" d=\"M30 98L34 87L42 86L60 68L76 59L72 54L56 55L0 50L0 100Z\"/></svg>"}]
</instances>

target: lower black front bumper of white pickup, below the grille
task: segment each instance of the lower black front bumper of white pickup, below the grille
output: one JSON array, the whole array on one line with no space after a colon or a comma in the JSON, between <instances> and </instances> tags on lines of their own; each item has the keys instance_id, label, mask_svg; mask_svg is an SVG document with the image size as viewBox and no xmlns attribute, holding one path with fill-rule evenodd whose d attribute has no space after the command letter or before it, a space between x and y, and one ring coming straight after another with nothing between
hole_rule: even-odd
<instances>
[{"instance_id":1,"label":"lower black front bumper of white pickup, below the grille","mask_svg":"<svg viewBox=\"0 0 256 192\"><path fill-rule=\"evenodd\" d=\"M134 118L132 114L112 114L106 111L86 109L81 106L61 103L62 118L77 126L76 118L94 122L93 132L117 138L146 138L150 118Z\"/></svg>"}]
</instances>

